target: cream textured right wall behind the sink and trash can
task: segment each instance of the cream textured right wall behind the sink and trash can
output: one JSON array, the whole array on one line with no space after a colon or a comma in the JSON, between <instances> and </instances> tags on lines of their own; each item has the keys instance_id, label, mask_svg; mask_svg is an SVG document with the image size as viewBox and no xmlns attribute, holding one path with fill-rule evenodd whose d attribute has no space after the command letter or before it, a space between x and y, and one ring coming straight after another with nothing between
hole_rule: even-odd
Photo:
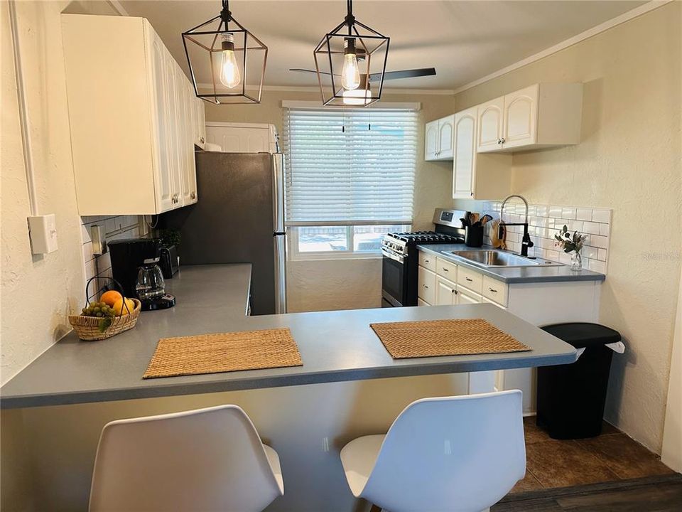
<instances>
[{"instance_id":1,"label":"cream textured right wall behind the sink and trash can","mask_svg":"<svg viewBox=\"0 0 682 512\"><path fill-rule=\"evenodd\" d=\"M585 84L580 144L514 154L512 192L613 209L600 321L628 349L606 414L659 453L682 245L681 11L671 2L455 96L458 111L535 82Z\"/></svg>"}]
</instances>

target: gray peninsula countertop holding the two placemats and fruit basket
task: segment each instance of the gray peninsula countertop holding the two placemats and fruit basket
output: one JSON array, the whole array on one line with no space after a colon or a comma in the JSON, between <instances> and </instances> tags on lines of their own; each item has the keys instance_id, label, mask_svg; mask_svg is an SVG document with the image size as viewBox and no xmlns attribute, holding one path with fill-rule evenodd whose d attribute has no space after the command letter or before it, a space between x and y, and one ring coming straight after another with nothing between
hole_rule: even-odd
<instances>
[{"instance_id":1,"label":"gray peninsula countertop holding the two placemats and fruit basket","mask_svg":"<svg viewBox=\"0 0 682 512\"><path fill-rule=\"evenodd\" d=\"M442 246L441 246L442 247ZM103 341L71 333L0 389L0 406L34 407L273 388L341 380L573 363L575 348L492 304L245 316L251 265L182 267L168 281L178 304L141 314L135 329ZM483 318L529 352L394 360L369 324ZM303 366L143 380L159 338L288 327Z\"/></svg>"}]
</instances>

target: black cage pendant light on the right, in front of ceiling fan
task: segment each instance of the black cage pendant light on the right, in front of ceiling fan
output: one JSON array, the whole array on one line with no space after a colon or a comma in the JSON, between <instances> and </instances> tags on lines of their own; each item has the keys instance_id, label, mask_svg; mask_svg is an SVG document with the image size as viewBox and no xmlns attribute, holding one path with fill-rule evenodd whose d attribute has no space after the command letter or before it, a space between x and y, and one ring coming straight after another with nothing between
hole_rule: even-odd
<instances>
[{"instance_id":1,"label":"black cage pendant light on the right, in front of ceiling fan","mask_svg":"<svg viewBox=\"0 0 682 512\"><path fill-rule=\"evenodd\" d=\"M380 100L389 41L357 21L353 2L347 0L343 23L326 34L313 52L323 104L365 107Z\"/></svg>"}]
</instances>

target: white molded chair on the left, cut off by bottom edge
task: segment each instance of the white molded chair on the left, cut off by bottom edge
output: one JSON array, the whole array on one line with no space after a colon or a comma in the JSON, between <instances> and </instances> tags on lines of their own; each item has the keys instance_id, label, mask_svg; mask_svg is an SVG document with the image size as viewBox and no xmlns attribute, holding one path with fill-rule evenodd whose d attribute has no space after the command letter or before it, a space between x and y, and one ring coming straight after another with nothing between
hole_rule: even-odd
<instances>
[{"instance_id":1,"label":"white molded chair on the left, cut off by bottom edge","mask_svg":"<svg viewBox=\"0 0 682 512\"><path fill-rule=\"evenodd\" d=\"M106 425L90 512L261 511L281 494L247 414L221 405Z\"/></svg>"}]
</instances>

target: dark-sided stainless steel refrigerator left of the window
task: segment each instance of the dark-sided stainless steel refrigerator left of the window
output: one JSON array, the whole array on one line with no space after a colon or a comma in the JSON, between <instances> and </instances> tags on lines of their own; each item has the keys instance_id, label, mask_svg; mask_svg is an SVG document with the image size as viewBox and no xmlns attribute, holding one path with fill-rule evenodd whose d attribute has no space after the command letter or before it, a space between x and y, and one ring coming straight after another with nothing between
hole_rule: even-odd
<instances>
[{"instance_id":1,"label":"dark-sided stainless steel refrigerator left of the window","mask_svg":"<svg viewBox=\"0 0 682 512\"><path fill-rule=\"evenodd\" d=\"M180 270L251 263L251 314L285 313L284 155L206 151L196 161L197 203L159 219L180 230Z\"/></svg>"}]
</instances>

